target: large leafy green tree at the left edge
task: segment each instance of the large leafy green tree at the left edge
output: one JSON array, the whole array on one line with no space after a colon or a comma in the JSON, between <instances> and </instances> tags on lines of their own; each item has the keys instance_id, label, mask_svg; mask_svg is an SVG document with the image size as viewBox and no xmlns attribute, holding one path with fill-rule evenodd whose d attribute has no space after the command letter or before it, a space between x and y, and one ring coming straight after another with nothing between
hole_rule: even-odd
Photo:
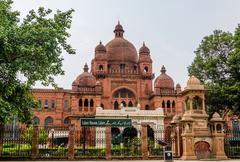
<instances>
[{"instance_id":1,"label":"large leafy green tree at the left edge","mask_svg":"<svg viewBox=\"0 0 240 162\"><path fill-rule=\"evenodd\" d=\"M18 115L30 122L36 101L31 87L36 81L53 85L53 76L63 75L61 53L75 51L67 43L73 10L57 11L39 7L20 21L11 0L0 0L0 124ZM24 76L21 81L18 75Z\"/></svg>"}]
</instances>

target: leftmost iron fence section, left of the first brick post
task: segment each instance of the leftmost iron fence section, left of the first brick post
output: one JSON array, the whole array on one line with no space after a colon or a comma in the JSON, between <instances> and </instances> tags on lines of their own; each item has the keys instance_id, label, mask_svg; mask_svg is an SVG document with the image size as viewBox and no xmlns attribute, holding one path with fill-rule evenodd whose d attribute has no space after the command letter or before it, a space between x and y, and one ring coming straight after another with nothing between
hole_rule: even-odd
<instances>
[{"instance_id":1,"label":"leftmost iron fence section, left of the first brick post","mask_svg":"<svg viewBox=\"0 0 240 162\"><path fill-rule=\"evenodd\" d=\"M3 158L30 157L32 127L4 126L1 128L0 156Z\"/></svg>"}]
</instances>

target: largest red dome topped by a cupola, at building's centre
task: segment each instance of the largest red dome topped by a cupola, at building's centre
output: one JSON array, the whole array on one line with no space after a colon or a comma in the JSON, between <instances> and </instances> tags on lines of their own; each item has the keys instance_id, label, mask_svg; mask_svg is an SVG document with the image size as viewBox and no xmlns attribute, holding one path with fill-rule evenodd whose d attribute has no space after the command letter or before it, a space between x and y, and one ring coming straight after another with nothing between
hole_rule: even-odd
<instances>
[{"instance_id":1,"label":"largest red dome topped by a cupola, at building's centre","mask_svg":"<svg viewBox=\"0 0 240 162\"><path fill-rule=\"evenodd\" d=\"M123 28L118 22L115 27L115 38L106 45L108 61L138 62L137 50L132 43L123 38Z\"/></svg>"}]
</instances>

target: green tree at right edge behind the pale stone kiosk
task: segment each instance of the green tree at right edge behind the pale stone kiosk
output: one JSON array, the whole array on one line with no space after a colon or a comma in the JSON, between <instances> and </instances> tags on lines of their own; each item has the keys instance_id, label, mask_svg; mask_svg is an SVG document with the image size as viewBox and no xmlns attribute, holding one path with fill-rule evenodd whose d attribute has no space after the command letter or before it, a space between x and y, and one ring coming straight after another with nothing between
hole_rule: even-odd
<instances>
[{"instance_id":1,"label":"green tree at right edge behind the pale stone kiosk","mask_svg":"<svg viewBox=\"0 0 240 162\"><path fill-rule=\"evenodd\" d=\"M207 89L210 114L222 110L240 112L240 25L234 33L216 30L203 38L188 67Z\"/></svg>"}]
</instances>

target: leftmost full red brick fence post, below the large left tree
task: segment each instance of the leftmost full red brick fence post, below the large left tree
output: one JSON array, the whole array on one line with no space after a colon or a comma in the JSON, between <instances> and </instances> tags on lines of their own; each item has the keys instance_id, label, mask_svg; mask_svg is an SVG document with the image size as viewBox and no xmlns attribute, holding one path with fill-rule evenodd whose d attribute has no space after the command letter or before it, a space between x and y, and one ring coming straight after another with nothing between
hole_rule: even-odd
<instances>
[{"instance_id":1,"label":"leftmost full red brick fence post, below the large left tree","mask_svg":"<svg viewBox=\"0 0 240 162\"><path fill-rule=\"evenodd\" d=\"M39 142L39 127L37 125L34 125L32 132L32 160L35 160L38 157L38 142Z\"/></svg>"}]
</instances>

